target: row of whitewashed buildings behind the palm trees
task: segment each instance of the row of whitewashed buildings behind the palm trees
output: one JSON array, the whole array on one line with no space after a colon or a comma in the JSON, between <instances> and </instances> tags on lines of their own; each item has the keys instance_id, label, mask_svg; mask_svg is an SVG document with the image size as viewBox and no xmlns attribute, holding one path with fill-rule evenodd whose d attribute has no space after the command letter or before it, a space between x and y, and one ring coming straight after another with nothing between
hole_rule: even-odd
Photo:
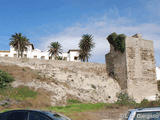
<instances>
[{"instance_id":1,"label":"row of whitewashed buildings behind the palm trees","mask_svg":"<svg viewBox=\"0 0 160 120\"><path fill-rule=\"evenodd\" d=\"M59 54L59 56L62 58L62 60L66 61L80 61L79 50L69 50L67 53ZM18 57L18 52L12 46L10 46L10 51L0 51L0 57ZM51 55L48 51L35 49L33 44L29 44L27 46L27 51L24 51L23 57L43 60L51 59Z\"/></svg>"}]
</instances>

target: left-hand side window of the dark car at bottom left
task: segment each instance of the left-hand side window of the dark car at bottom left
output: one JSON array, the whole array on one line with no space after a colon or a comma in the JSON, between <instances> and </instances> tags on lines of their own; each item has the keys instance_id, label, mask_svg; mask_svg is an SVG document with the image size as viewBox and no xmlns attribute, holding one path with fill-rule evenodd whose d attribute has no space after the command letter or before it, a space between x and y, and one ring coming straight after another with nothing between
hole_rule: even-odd
<instances>
[{"instance_id":1,"label":"left-hand side window of the dark car at bottom left","mask_svg":"<svg viewBox=\"0 0 160 120\"><path fill-rule=\"evenodd\" d=\"M11 113L7 120L27 120L27 112L13 112Z\"/></svg>"}]
</instances>

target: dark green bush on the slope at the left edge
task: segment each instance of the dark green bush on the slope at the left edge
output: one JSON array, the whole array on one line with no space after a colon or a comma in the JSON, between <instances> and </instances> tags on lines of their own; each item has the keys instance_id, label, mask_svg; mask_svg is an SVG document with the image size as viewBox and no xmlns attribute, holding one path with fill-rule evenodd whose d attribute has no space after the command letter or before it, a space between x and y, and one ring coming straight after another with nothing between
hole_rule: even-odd
<instances>
[{"instance_id":1,"label":"dark green bush on the slope at the left edge","mask_svg":"<svg viewBox=\"0 0 160 120\"><path fill-rule=\"evenodd\" d=\"M14 78L11 75L0 70L0 88L7 87L12 81L14 81Z\"/></svg>"}]
</instances>

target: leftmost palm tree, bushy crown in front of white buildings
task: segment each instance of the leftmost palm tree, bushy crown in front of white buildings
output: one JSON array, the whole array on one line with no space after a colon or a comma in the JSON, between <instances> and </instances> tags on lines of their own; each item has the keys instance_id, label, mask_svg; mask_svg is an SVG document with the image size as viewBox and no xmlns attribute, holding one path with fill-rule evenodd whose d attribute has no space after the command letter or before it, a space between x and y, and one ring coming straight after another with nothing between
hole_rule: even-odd
<instances>
[{"instance_id":1,"label":"leftmost palm tree, bushy crown in front of white buildings","mask_svg":"<svg viewBox=\"0 0 160 120\"><path fill-rule=\"evenodd\" d=\"M29 39L22 33L15 33L10 38L10 45L18 52L18 57L23 57L23 52L27 50Z\"/></svg>"}]
</instances>

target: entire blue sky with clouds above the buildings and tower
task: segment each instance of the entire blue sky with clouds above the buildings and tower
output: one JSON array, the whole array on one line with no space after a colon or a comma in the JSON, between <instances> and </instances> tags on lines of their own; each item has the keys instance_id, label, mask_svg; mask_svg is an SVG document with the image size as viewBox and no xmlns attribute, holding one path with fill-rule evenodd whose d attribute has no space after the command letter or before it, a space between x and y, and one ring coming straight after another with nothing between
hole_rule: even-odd
<instances>
[{"instance_id":1,"label":"entire blue sky with clouds above the buildings and tower","mask_svg":"<svg viewBox=\"0 0 160 120\"><path fill-rule=\"evenodd\" d=\"M36 48L46 50L59 41L66 52L89 33L96 43L90 61L104 63L108 34L141 33L154 41L160 66L159 6L160 0L0 0L0 49L8 50L10 36L21 32Z\"/></svg>"}]
</instances>

